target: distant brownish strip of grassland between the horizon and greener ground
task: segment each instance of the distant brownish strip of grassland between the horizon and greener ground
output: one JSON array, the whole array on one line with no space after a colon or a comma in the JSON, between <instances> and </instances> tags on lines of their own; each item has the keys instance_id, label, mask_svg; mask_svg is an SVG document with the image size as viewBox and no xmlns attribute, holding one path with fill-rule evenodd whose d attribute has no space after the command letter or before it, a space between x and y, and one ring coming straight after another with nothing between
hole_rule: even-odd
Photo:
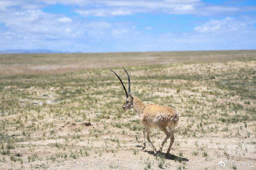
<instances>
[{"instance_id":1,"label":"distant brownish strip of grassland between the horizon and greener ground","mask_svg":"<svg viewBox=\"0 0 256 170\"><path fill-rule=\"evenodd\" d=\"M59 74L89 68L254 60L256 50L0 54L0 75Z\"/></svg>"}]
</instances>

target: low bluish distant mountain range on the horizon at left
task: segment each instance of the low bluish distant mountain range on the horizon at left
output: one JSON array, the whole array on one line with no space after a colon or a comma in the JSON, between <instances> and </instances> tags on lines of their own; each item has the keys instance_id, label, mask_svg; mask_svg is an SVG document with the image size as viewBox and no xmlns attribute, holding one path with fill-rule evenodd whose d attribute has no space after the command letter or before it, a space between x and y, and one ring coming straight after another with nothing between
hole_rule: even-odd
<instances>
[{"instance_id":1,"label":"low bluish distant mountain range on the horizon at left","mask_svg":"<svg viewBox=\"0 0 256 170\"><path fill-rule=\"evenodd\" d=\"M66 53L58 50L48 50L48 49L10 49L10 50L0 50L0 54L18 54L18 53Z\"/></svg>"}]
</instances>

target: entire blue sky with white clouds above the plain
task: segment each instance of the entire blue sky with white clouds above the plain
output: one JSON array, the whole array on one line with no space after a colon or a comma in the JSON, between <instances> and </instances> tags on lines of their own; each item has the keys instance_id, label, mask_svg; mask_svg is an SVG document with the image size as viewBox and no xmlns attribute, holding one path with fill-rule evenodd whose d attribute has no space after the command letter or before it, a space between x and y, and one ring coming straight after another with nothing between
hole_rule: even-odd
<instances>
[{"instance_id":1,"label":"entire blue sky with white clouds above the plain","mask_svg":"<svg viewBox=\"0 0 256 170\"><path fill-rule=\"evenodd\" d=\"M254 0L0 0L0 50L256 49Z\"/></svg>"}]
</instances>

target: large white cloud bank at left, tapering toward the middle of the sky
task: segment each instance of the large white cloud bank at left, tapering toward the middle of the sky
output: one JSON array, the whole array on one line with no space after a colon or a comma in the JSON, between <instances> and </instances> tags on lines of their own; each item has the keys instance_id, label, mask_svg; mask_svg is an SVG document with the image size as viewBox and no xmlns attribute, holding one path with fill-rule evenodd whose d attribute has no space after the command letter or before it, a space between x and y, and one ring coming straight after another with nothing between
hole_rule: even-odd
<instances>
[{"instance_id":1,"label":"large white cloud bank at left, tapering toward the middle of the sky","mask_svg":"<svg viewBox=\"0 0 256 170\"><path fill-rule=\"evenodd\" d=\"M6 36L13 35L13 39L17 38L14 35L23 35L22 37L31 39L81 38L86 35L97 37L97 34L99 35L111 27L111 24L104 21L73 21L69 17L60 17L42 12L42 10L9 10L9 12L5 12L5 15L1 14L0 12L0 23L5 23L9 32L13 33Z\"/></svg>"}]
</instances>

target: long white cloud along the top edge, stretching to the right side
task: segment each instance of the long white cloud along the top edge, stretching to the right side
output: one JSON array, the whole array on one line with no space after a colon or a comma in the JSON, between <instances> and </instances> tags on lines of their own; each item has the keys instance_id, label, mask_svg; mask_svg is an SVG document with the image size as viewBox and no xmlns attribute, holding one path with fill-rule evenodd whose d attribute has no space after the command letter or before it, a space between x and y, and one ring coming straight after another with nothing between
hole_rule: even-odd
<instances>
[{"instance_id":1,"label":"long white cloud along the top edge, stretching to the right side","mask_svg":"<svg viewBox=\"0 0 256 170\"><path fill-rule=\"evenodd\" d=\"M129 9L130 14L134 13L148 13L148 12L161 12L172 14L195 14L195 15L216 15L218 13L233 13L241 12L244 10L254 10L253 8L237 7L237 6L218 6L208 5L200 0L165 0L165 1L97 1L98 6L105 5L105 8L110 7L108 10L116 10L116 8ZM98 10L95 5L94 10ZM93 13L91 13L93 14ZM111 12L106 13L111 15ZM87 13L90 15L90 13ZM104 15L104 16L106 16Z\"/></svg>"}]
</instances>

